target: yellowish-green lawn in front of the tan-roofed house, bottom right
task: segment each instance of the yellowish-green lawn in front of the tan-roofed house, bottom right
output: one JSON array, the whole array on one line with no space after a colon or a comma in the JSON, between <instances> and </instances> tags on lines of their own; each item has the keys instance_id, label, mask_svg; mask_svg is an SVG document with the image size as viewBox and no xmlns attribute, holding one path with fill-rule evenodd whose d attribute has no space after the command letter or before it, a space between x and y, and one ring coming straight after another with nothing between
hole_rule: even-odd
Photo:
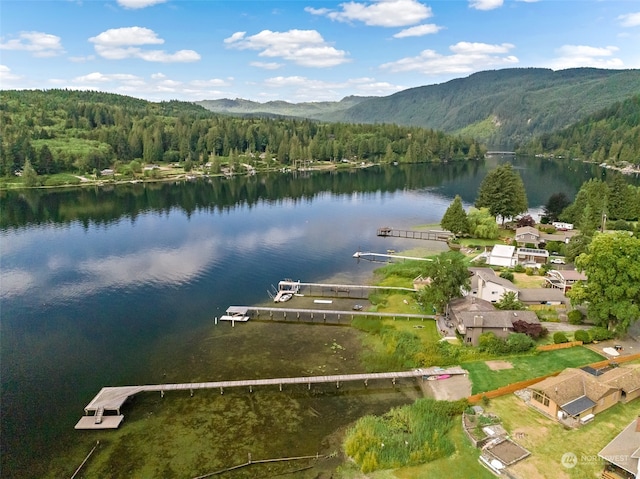
<instances>
[{"instance_id":1,"label":"yellowish-green lawn in front of the tan-roofed house, bottom right","mask_svg":"<svg viewBox=\"0 0 640 479\"><path fill-rule=\"evenodd\" d=\"M511 437L531 452L513 467L518 477L596 479L603 467L598 452L638 416L638 402L617 404L575 430L565 429L512 394L491 400L488 411L500 416ZM565 453L576 455L575 467L562 466Z\"/></svg>"}]
</instances>

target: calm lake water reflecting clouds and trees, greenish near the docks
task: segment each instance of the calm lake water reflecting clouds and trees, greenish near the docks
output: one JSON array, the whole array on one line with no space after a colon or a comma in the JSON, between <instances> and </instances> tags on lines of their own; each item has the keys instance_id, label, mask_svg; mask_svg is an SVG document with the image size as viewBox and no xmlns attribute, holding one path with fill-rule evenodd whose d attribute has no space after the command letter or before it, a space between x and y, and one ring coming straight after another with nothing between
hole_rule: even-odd
<instances>
[{"instance_id":1,"label":"calm lake water reflecting clouds and trees, greenish near the docks","mask_svg":"<svg viewBox=\"0 0 640 479\"><path fill-rule=\"evenodd\" d=\"M340 357L345 366L339 366L335 354L325 359L313 350L313 338L321 345L358 344L350 328L249 322L231 330L214 326L212 318L229 305L268 300L267 290L284 278L369 281L374 265L355 261L355 251L425 246L378 238L378 227L437 223L456 194L469 206L487 171L502 161L1 193L2 476L70 476L96 438L124 443L127 428L135 430L145 414L160 416L149 420L149 428L162 427L169 407L163 404L177 408L186 401L136 399L124 411L127 419L119 431L75 431L83 407L103 386L317 374L323 363L340 372L361 371L354 351ZM613 174L577 162L518 159L514 165L533 209L553 193L572 198L583 181ZM306 357L305 351L318 356ZM263 424L250 437L273 442L271 450L262 449L265 454L304 453L293 445L300 444L296 437L308 435L309 442L319 443L380 404L407 402L409 390L313 398L308 407L325 410L320 420L325 425L315 433ZM237 393L238 404L245 396ZM287 400L304 401L295 394ZM207 401L200 395L189 407L211 408ZM257 415L259 422L256 404L240 410ZM351 405L349 413L331 412L345 404ZM277 414L295 409L277 407L282 407ZM232 440L225 431L233 431L233 424L230 417L215 442ZM288 424L307 427L293 418ZM215 460L242 462L246 448L258 447L246 436L234 438L231 447L240 455L220 452ZM246 447L236 447L239 441ZM144 462L128 451L93 467L104 467L96 470L111 471L112 477L158 474L158 469L141 472L144 466L127 460ZM209 462L201 473L221 467ZM166 477L193 472L190 464L183 469L172 464Z\"/></svg>"}]
</instances>

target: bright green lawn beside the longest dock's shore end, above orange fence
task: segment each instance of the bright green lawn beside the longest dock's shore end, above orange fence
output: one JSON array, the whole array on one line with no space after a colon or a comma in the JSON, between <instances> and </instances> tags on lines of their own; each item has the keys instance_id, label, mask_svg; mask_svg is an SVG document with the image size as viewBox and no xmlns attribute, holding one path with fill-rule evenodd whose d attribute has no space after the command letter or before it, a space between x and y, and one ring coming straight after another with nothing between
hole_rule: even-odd
<instances>
[{"instance_id":1,"label":"bright green lawn beside the longest dock's shore end, above orange fence","mask_svg":"<svg viewBox=\"0 0 640 479\"><path fill-rule=\"evenodd\" d=\"M513 368L494 371L487 366L485 361L475 361L462 365L463 368L469 371L469 378L473 384L472 394L491 391L511 383L544 376L565 368L579 367L602 361L603 357L595 351L576 346L528 356L498 359L509 361Z\"/></svg>"}]
</instances>

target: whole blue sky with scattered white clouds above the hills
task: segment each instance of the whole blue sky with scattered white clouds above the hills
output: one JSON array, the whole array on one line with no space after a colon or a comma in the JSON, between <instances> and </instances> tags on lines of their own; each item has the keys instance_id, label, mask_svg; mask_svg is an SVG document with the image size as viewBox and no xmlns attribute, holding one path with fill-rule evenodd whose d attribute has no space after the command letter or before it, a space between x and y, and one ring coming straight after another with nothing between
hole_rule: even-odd
<instances>
[{"instance_id":1,"label":"whole blue sky with scattered white clouds above the hills","mask_svg":"<svg viewBox=\"0 0 640 479\"><path fill-rule=\"evenodd\" d=\"M335 101L514 67L640 68L640 2L0 1L2 89Z\"/></svg>"}]
</instances>

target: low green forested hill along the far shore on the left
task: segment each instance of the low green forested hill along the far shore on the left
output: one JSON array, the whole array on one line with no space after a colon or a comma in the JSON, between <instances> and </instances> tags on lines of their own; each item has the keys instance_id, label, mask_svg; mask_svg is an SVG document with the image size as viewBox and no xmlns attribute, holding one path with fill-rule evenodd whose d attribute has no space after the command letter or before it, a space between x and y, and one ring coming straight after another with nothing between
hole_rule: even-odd
<instances>
[{"instance_id":1,"label":"low green forested hill along the far shore on the left","mask_svg":"<svg viewBox=\"0 0 640 479\"><path fill-rule=\"evenodd\" d=\"M266 166L298 161L476 158L473 140L417 127L236 118L185 102L89 91L0 92L0 175L28 160L40 175L96 173L136 162ZM266 158L266 160L265 160ZM274 161L275 160L275 161ZM258 165L257 165L258 166Z\"/></svg>"}]
</instances>

